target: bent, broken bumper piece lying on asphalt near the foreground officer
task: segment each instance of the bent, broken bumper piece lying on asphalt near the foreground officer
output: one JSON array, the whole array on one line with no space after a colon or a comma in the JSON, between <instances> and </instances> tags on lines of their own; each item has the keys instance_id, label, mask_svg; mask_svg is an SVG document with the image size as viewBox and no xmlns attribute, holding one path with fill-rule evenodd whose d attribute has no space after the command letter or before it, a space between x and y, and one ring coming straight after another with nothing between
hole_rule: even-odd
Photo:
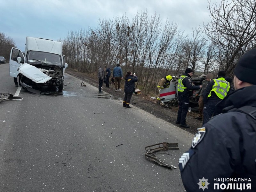
<instances>
[{"instance_id":1,"label":"bent, broken bumper piece lying on asphalt near the foreground officer","mask_svg":"<svg viewBox=\"0 0 256 192\"><path fill-rule=\"evenodd\" d=\"M145 153L145 158L148 161L154 161L156 163L158 163L159 165L168 167L168 168L174 168L176 169L177 167L173 166L173 165L169 165L167 163L165 163L164 161L162 161L161 159L159 159L156 155L157 154L163 154L163 153L158 153L161 151L168 151L168 150L179 150L178 147L178 143L167 143L167 142L163 142L163 143L158 143L156 145L150 145L145 147L145 150L147 151ZM164 153L167 154L167 153ZM170 154L167 154L170 155Z\"/></svg>"}]
</instances>

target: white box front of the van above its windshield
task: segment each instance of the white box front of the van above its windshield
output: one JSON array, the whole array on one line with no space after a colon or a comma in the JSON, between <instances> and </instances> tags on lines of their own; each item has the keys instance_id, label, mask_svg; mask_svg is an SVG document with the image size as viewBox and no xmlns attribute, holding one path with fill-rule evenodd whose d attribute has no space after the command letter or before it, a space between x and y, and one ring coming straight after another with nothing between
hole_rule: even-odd
<instances>
[{"instance_id":1,"label":"white box front of the van above its windshield","mask_svg":"<svg viewBox=\"0 0 256 192\"><path fill-rule=\"evenodd\" d=\"M62 43L58 41L52 41L49 39L27 37L25 55L28 51L42 51L54 53L62 56Z\"/></svg>"}]
</instances>

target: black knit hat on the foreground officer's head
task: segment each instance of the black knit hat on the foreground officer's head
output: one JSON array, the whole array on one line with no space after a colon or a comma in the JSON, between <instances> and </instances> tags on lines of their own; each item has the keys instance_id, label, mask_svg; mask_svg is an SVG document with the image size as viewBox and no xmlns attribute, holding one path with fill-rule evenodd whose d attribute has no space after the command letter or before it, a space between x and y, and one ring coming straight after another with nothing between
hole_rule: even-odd
<instances>
[{"instance_id":1,"label":"black knit hat on the foreground officer's head","mask_svg":"<svg viewBox=\"0 0 256 192\"><path fill-rule=\"evenodd\" d=\"M244 53L234 69L236 77L244 82L256 85L256 48Z\"/></svg>"}]
</instances>

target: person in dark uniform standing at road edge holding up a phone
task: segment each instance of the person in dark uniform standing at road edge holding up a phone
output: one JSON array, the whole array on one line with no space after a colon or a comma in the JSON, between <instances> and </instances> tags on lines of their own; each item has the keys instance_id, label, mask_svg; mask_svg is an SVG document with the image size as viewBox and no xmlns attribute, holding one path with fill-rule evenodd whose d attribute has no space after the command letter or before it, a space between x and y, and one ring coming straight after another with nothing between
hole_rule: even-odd
<instances>
[{"instance_id":1,"label":"person in dark uniform standing at road edge holding up a phone","mask_svg":"<svg viewBox=\"0 0 256 192\"><path fill-rule=\"evenodd\" d=\"M132 93L135 91L135 82L138 81L137 76L133 76L131 71L127 71L126 75L124 76L124 101L123 107L131 108L130 100L132 98Z\"/></svg>"}]
</instances>

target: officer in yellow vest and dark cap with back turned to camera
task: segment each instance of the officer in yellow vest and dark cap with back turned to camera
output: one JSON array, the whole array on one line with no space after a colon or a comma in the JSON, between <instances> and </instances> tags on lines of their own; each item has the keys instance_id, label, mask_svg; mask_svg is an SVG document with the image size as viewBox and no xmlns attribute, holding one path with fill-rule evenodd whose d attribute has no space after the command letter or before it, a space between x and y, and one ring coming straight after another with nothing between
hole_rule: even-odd
<instances>
[{"instance_id":1,"label":"officer in yellow vest and dark cap with back turned to camera","mask_svg":"<svg viewBox=\"0 0 256 192\"><path fill-rule=\"evenodd\" d=\"M230 84L225 80L226 72L219 71L217 79L213 79L208 83L204 90L203 100L204 100L204 118L203 125L209 121L215 110L215 106L224 97L230 89Z\"/></svg>"}]
</instances>

